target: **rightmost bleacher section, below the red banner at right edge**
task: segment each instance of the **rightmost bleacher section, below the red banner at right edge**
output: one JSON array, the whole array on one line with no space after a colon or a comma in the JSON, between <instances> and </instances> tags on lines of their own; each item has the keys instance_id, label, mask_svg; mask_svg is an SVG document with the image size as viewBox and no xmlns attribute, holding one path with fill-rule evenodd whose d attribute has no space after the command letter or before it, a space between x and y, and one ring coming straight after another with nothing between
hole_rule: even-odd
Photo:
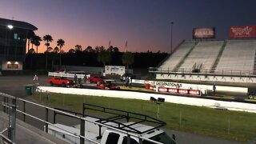
<instances>
[{"instance_id":1,"label":"rightmost bleacher section, below the red banner at right edge","mask_svg":"<svg viewBox=\"0 0 256 144\"><path fill-rule=\"evenodd\" d=\"M256 40L229 40L222 53L215 73L233 71L252 73L254 71L254 57Z\"/></svg>"}]
</instances>

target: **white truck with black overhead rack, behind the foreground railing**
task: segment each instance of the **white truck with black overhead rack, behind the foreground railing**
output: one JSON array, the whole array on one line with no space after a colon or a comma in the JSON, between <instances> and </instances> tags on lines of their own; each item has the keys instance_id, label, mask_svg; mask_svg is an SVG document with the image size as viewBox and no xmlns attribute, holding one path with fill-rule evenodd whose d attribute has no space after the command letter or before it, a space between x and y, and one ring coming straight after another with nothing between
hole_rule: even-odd
<instances>
[{"instance_id":1,"label":"white truck with black overhead rack, behind the foreground railing","mask_svg":"<svg viewBox=\"0 0 256 144\"><path fill-rule=\"evenodd\" d=\"M96 110L100 111L100 108L103 107L98 106L96 107ZM139 144L139 138L141 138L142 144L154 144L160 142L163 144L176 144L174 134L173 137L170 138L165 131L159 129L159 127L166 124L165 122L162 122L156 118L151 118L144 114L137 114L124 110L114 110L104 107L104 112L108 110L111 111L110 114L114 114L113 111L117 111L119 114L110 118L96 118L88 115L85 117L86 140L84 143L126 144L130 141L130 144ZM70 111L68 112L70 113ZM125 114L120 115L120 113ZM133 117L131 115L135 116ZM140 115L142 118L135 118L137 117L136 115ZM130 119L137 119L137 121L128 122ZM121 121L118 122L117 120ZM124 120L126 122L124 122ZM146 122L146 124L143 122ZM147 123L154 123L154 126L149 126ZM53 126L48 126L48 134L52 134L55 137L61 138L63 141L69 143L79 143L80 127L80 125L66 126L55 123ZM128 137L127 134L130 136Z\"/></svg>"}]
</instances>

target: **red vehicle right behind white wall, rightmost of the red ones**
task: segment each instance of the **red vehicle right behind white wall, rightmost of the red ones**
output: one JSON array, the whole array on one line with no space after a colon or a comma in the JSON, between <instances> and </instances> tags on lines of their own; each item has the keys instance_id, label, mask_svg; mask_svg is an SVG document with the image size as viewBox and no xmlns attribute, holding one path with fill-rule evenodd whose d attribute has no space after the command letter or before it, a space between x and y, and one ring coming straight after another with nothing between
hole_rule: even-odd
<instances>
[{"instance_id":1,"label":"red vehicle right behind white wall, rightmost of the red ones","mask_svg":"<svg viewBox=\"0 0 256 144\"><path fill-rule=\"evenodd\" d=\"M102 81L98 81L97 86L102 90L120 90L117 82L112 79L104 79Z\"/></svg>"}]
</instances>

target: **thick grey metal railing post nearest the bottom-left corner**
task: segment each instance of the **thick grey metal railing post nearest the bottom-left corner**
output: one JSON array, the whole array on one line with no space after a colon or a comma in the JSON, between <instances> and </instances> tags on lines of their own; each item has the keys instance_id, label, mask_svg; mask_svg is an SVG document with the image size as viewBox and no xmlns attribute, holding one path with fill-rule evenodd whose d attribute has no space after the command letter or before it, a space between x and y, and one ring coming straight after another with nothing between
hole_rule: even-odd
<instances>
[{"instance_id":1,"label":"thick grey metal railing post nearest the bottom-left corner","mask_svg":"<svg viewBox=\"0 0 256 144\"><path fill-rule=\"evenodd\" d=\"M9 117L8 138L14 143L16 130L16 106L16 98L13 98L11 102L11 110Z\"/></svg>"}]
</instances>

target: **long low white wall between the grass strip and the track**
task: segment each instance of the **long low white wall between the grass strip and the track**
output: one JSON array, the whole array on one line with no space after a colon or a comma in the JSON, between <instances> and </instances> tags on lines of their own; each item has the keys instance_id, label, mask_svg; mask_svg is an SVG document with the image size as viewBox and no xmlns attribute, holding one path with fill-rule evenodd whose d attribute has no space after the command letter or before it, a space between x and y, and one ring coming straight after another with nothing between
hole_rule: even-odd
<instances>
[{"instance_id":1,"label":"long low white wall between the grass strip and the track","mask_svg":"<svg viewBox=\"0 0 256 144\"><path fill-rule=\"evenodd\" d=\"M90 96L104 96L114 98L132 98L150 100L150 97L165 98L165 102L179 103L192 106L207 106L215 108L216 105L226 107L228 110L238 110L256 113L256 105L243 102L222 102L212 99L204 98L189 98L180 97L176 95L166 94L147 94L134 91L122 91L122 90L92 90L92 89L78 89L78 88L64 88L64 87L51 87L51 86L38 86L39 90L45 90L53 93L62 94L81 94Z\"/></svg>"}]
</instances>

